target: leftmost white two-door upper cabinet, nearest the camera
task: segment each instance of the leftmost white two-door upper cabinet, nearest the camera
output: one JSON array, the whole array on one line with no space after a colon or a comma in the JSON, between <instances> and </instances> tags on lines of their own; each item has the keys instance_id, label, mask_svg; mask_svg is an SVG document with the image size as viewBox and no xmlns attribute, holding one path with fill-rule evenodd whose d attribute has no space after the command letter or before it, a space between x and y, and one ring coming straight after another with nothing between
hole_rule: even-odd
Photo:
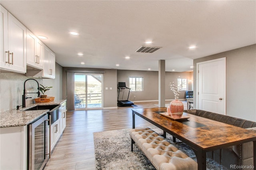
<instances>
[{"instance_id":1,"label":"leftmost white two-door upper cabinet, nearest the camera","mask_svg":"<svg viewBox=\"0 0 256 170\"><path fill-rule=\"evenodd\" d=\"M26 73L26 27L1 6L0 69Z\"/></svg>"}]
</instances>

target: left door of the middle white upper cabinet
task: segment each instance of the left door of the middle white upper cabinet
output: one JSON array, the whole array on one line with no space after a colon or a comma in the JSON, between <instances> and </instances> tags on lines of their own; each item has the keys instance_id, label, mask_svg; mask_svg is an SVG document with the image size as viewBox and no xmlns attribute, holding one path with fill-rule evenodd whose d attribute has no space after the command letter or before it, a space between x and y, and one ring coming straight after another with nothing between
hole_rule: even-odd
<instances>
[{"instance_id":1,"label":"left door of the middle white upper cabinet","mask_svg":"<svg viewBox=\"0 0 256 170\"><path fill-rule=\"evenodd\" d=\"M36 67L36 36L27 30L27 64Z\"/></svg>"}]
</instances>

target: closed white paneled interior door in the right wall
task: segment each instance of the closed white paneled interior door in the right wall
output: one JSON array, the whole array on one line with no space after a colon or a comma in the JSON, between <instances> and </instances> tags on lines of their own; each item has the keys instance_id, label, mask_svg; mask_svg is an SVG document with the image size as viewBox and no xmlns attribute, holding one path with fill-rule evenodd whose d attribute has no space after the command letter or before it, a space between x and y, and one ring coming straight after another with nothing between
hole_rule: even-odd
<instances>
[{"instance_id":1,"label":"closed white paneled interior door in the right wall","mask_svg":"<svg viewBox=\"0 0 256 170\"><path fill-rule=\"evenodd\" d=\"M197 108L226 115L226 57L197 63Z\"/></svg>"}]
</instances>

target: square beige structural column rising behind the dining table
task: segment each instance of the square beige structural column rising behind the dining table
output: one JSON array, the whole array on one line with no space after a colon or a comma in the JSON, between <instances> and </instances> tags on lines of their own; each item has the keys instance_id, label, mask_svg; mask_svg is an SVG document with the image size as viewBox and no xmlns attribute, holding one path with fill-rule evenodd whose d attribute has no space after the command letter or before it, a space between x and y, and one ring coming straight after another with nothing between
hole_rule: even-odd
<instances>
[{"instance_id":1,"label":"square beige structural column rising behind the dining table","mask_svg":"<svg viewBox=\"0 0 256 170\"><path fill-rule=\"evenodd\" d=\"M159 60L158 66L158 106L165 107L165 60Z\"/></svg>"}]
</instances>

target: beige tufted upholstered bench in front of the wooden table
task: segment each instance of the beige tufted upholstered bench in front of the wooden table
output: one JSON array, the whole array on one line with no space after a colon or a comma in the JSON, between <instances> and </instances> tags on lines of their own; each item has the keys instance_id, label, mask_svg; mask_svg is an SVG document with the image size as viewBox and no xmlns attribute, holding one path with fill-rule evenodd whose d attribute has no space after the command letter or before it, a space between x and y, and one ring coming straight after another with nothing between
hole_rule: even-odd
<instances>
[{"instance_id":1,"label":"beige tufted upholstered bench in front of the wooden table","mask_svg":"<svg viewBox=\"0 0 256 170\"><path fill-rule=\"evenodd\" d=\"M133 143L148 157L158 170L197 170L197 162L184 152L170 144L162 136L150 128L134 128L130 130Z\"/></svg>"}]
</instances>

